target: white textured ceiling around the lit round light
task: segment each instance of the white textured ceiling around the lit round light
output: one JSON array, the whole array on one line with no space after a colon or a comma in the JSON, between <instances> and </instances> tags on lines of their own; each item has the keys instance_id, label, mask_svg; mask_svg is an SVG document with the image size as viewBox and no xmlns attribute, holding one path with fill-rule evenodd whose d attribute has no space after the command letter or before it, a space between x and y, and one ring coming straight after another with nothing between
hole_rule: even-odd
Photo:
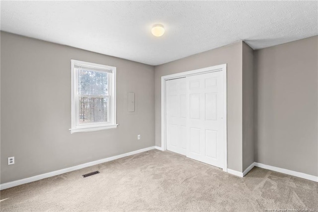
<instances>
[{"instance_id":1,"label":"white textured ceiling around the lit round light","mask_svg":"<svg viewBox=\"0 0 318 212\"><path fill-rule=\"evenodd\" d=\"M239 40L259 49L317 35L318 1L1 1L1 30L159 65Z\"/></svg>"}]
</instances>

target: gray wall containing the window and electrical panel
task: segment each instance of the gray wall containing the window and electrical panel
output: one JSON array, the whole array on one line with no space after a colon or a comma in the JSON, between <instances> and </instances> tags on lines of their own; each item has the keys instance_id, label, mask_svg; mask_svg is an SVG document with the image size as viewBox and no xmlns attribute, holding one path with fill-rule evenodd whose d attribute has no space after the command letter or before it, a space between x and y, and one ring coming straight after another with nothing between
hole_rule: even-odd
<instances>
[{"instance_id":1,"label":"gray wall containing the window and electrical panel","mask_svg":"<svg viewBox=\"0 0 318 212\"><path fill-rule=\"evenodd\" d=\"M116 129L69 132L71 59L117 67ZM1 183L154 146L154 103L153 66L1 32Z\"/></svg>"}]
</instances>

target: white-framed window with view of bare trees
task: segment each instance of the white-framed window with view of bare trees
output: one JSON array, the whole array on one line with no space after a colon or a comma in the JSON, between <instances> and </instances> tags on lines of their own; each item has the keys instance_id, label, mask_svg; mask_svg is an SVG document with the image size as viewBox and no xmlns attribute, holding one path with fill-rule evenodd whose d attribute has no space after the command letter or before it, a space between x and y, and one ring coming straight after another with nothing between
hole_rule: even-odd
<instances>
[{"instance_id":1,"label":"white-framed window with view of bare trees","mask_svg":"<svg viewBox=\"0 0 318 212\"><path fill-rule=\"evenodd\" d=\"M71 133L115 128L116 67L71 60Z\"/></svg>"}]
</instances>

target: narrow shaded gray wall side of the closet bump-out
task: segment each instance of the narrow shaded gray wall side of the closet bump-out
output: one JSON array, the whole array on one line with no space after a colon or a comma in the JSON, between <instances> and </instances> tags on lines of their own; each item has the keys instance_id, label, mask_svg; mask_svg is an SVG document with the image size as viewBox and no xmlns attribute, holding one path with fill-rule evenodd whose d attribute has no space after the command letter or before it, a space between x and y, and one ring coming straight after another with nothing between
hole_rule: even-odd
<instances>
[{"instance_id":1,"label":"narrow shaded gray wall side of the closet bump-out","mask_svg":"<svg viewBox=\"0 0 318 212\"><path fill-rule=\"evenodd\" d=\"M254 162L254 50L245 42L242 46L243 63L243 171Z\"/></svg>"}]
</instances>

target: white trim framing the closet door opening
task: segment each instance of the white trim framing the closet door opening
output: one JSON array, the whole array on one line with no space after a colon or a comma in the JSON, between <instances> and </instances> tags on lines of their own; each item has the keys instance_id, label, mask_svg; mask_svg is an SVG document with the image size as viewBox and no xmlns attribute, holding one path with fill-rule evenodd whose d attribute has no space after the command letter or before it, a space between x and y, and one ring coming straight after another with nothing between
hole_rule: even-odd
<instances>
[{"instance_id":1,"label":"white trim framing the closet door opening","mask_svg":"<svg viewBox=\"0 0 318 212\"><path fill-rule=\"evenodd\" d=\"M227 64L222 64L218 66L211 66L202 69L196 69L187 72L181 72L177 74L171 74L161 77L161 149L165 151L167 149L167 140L166 140L166 89L165 81L172 80L180 77L187 77L191 75L205 74L210 72L222 71L224 75L224 166L223 171L228 171L228 137L227 137Z\"/></svg>"}]
</instances>

